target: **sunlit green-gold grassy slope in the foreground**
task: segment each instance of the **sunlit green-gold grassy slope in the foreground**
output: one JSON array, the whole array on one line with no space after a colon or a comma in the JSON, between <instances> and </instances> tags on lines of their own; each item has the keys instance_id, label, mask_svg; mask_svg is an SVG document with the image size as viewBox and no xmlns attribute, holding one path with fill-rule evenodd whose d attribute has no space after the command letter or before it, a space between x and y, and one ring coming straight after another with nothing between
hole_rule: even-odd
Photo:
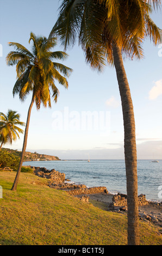
<instances>
[{"instance_id":1,"label":"sunlit green-gold grassy slope in the foreground","mask_svg":"<svg viewBox=\"0 0 162 256\"><path fill-rule=\"evenodd\" d=\"M0 172L0 245L126 245L127 218L47 186L48 180ZM141 244L160 245L153 225L140 222Z\"/></svg>"}]
</instances>

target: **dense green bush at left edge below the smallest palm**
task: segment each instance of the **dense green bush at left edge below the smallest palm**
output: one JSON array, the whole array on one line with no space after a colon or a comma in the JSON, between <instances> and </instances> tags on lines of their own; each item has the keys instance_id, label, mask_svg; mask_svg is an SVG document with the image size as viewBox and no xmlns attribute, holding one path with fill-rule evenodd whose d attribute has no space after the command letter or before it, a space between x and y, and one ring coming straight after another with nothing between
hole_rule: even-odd
<instances>
[{"instance_id":1,"label":"dense green bush at left edge below the smallest palm","mask_svg":"<svg viewBox=\"0 0 162 256\"><path fill-rule=\"evenodd\" d=\"M10 169L17 170L20 157L13 153L9 153L7 150L1 150L0 152L0 167L9 167Z\"/></svg>"}]
</instances>

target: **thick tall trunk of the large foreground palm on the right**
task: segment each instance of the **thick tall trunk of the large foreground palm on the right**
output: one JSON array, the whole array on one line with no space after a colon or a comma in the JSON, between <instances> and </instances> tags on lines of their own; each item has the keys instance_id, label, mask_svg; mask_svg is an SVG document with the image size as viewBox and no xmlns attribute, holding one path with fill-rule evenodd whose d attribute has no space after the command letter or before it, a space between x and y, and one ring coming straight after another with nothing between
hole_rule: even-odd
<instances>
[{"instance_id":1,"label":"thick tall trunk of the large foreground palm on the right","mask_svg":"<svg viewBox=\"0 0 162 256\"><path fill-rule=\"evenodd\" d=\"M136 162L135 120L126 71L121 50L113 45L114 65L119 84L123 123L124 156L127 178L128 245L139 245L138 177Z\"/></svg>"}]
</instances>

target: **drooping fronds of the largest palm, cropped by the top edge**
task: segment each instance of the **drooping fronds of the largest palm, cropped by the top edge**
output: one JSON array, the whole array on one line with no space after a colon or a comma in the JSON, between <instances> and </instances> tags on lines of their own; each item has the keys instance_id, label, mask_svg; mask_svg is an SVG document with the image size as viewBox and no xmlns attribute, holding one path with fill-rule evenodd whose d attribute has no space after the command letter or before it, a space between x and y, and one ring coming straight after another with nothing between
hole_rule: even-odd
<instances>
[{"instance_id":1,"label":"drooping fronds of the largest palm, cropped by the top edge","mask_svg":"<svg viewBox=\"0 0 162 256\"><path fill-rule=\"evenodd\" d=\"M50 36L59 35L65 48L73 46L78 40L85 52L86 62L93 69L101 71L107 63L114 63L114 44L120 47L123 57L140 59L145 38L150 38L155 45L161 42L161 30L149 16L152 8L147 1L61 2L59 17ZM159 3L159 0L154 1L154 8Z\"/></svg>"}]
</instances>

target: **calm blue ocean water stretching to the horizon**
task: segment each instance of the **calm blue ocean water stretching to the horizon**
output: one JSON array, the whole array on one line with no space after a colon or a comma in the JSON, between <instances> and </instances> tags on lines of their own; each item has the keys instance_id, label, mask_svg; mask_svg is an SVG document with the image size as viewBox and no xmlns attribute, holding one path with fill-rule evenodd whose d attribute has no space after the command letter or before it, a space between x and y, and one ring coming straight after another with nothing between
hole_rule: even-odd
<instances>
[{"instance_id":1,"label":"calm blue ocean water stretching to the horizon","mask_svg":"<svg viewBox=\"0 0 162 256\"><path fill-rule=\"evenodd\" d=\"M87 187L105 186L109 193L126 194L126 168L124 160L66 160L31 161L23 165L45 167L65 173L65 178ZM161 187L160 187L161 186ZM162 201L162 160L138 160L138 194L147 200Z\"/></svg>"}]
</instances>

